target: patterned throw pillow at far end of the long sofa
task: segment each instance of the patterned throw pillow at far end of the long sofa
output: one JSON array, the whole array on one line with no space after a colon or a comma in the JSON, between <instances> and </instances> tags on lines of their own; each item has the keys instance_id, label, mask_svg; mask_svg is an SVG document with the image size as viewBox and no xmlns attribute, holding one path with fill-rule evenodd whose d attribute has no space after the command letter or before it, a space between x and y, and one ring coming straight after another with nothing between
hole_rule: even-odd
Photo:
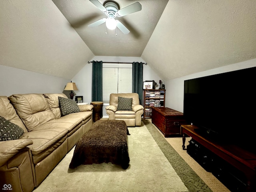
<instances>
[{"instance_id":1,"label":"patterned throw pillow at far end of the long sofa","mask_svg":"<svg viewBox=\"0 0 256 192\"><path fill-rule=\"evenodd\" d=\"M80 112L80 109L74 100L60 97L60 96L58 96L58 98L59 98L59 104L60 104L60 111L62 115L68 115L70 113Z\"/></svg>"}]
</instances>

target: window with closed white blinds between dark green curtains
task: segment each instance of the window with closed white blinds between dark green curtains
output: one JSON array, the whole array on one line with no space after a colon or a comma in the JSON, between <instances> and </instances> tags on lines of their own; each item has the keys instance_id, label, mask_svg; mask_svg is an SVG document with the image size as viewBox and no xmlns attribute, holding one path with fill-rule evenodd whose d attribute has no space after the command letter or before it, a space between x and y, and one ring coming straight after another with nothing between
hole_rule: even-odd
<instances>
[{"instance_id":1,"label":"window with closed white blinds between dark green curtains","mask_svg":"<svg viewBox=\"0 0 256 192\"><path fill-rule=\"evenodd\" d=\"M132 92L132 64L102 64L103 102L109 102L111 93Z\"/></svg>"}]
</instances>

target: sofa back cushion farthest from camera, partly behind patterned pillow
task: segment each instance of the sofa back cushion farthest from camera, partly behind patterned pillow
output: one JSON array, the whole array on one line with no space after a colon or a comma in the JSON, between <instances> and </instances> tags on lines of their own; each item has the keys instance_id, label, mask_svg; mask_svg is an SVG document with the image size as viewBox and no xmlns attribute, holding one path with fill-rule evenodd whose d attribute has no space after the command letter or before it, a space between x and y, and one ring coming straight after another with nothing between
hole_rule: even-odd
<instances>
[{"instance_id":1,"label":"sofa back cushion farthest from camera, partly behind patterned pillow","mask_svg":"<svg viewBox=\"0 0 256 192\"><path fill-rule=\"evenodd\" d=\"M46 98L50 106L50 110L52 110L56 119L61 117L60 104L59 104L59 98L58 98L59 96L68 98L64 93L45 93L44 94L44 97Z\"/></svg>"}]
</instances>

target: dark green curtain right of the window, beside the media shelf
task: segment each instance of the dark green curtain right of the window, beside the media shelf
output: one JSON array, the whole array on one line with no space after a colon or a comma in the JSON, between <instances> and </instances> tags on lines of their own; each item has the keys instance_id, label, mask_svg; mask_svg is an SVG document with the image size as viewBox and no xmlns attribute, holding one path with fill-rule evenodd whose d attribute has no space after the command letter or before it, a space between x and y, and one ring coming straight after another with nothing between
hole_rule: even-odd
<instances>
[{"instance_id":1,"label":"dark green curtain right of the window, beside the media shelf","mask_svg":"<svg viewBox=\"0 0 256 192\"><path fill-rule=\"evenodd\" d=\"M142 105L143 92L143 64L142 62L132 63L132 92L139 94L140 104Z\"/></svg>"}]
</instances>

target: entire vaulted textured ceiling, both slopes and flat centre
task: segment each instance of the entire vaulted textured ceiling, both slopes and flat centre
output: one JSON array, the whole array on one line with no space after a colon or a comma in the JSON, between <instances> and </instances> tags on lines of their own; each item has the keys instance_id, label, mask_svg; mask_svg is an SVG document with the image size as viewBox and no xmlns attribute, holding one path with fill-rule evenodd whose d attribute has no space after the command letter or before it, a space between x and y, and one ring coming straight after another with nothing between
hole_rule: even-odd
<instances>
[{"instance_id":1,"label":"entire vaulted textured ceiling, both slopes and flat centre","mask_svg":"<svg viewBox=\"0 0 256 192\"><path fill-rule=\"evenodd\" d=\"M88 27L106 18L89 0L1 0L0 64L71 79L94 56L131 56L170 80L256 58L255 0L116 0L136 1L116 35Z\"/></svg>"}]
</instances>

